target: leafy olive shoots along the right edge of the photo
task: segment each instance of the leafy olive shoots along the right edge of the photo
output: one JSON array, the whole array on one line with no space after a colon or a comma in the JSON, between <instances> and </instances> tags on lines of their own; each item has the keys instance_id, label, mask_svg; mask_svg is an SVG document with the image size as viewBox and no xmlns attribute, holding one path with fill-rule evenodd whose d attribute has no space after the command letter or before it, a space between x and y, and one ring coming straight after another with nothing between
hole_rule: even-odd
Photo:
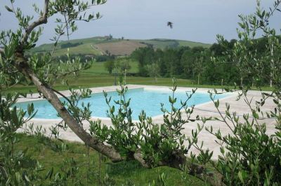
<instances>
[{"instance_id":1,"label":"leafy olive shoots along the right edge of the photo","mask_svg":"<svg viewBox=\"0 0 281 186\"><path fill-rule=\"evenodd\" d=\"M195 147L201 151L196 158L202 164L208 162L221 177L221 184L225 185L280 185L281 183L281 86L280 86L280 38L275 29L270 28L270 17L280 11L281 1L275 1L273 8L263 10L257 1L256 12L252 15L240 15L240 29L237 29L238 40L233 50L226 52L225 56L213 59L216 62L237 59L237 64L242 69L242 78L246 75L252 77L256 85L259 77L267 76L273 85L273 92L261 92L261 99L254 101L249 97L249 90L241 83L237 94L238 100L244 100L249 107L249 113L238 115L231 110L231 105L226 103L226 110L221 111L220 102L214 100L214 94L210 97L214 102L220 117L214 118L218 122L226 124L229 134L215 131L213 127L207 127L207 131L214 135L216 143L220 145L221 154L218 161L211 160L212 151L202 150L199 145ZM256 33L261 33L266 38L266 55L258 55L256 50L248 50L256 42ZM223 41L220 36L219 41ZM264 68L270 68L266 74ZM237 92L228 90L227 92ZM273 103L272 109L263 111L263 105ZM268 134L266 120L275 124L274 134Z\"/></svg>"}]
</instances>

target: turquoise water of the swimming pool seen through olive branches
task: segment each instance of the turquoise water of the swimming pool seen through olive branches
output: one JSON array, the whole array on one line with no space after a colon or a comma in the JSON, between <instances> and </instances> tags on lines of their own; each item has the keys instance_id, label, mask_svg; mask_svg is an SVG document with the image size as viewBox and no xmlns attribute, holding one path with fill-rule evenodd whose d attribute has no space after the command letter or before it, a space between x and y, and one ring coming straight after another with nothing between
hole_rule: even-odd
<instances>
[{"instance_id":1,"label":"turquoise water of the swimming pool seen through olive branches","mask_svg":"<svg viewBox=\"0 0 281 186\"><path fill-rule=\"evenodd\" d=\"M117 92L108 92L108 96L112 96L113 100L119 100ZM164 103L164 108L170 110L171 106L169 103L169 96L171 96L171 90L146 90L146 89L134 89L129 90L126 94L126 99L131 98L131 109L133 110L133 120L138 120L138 115L141 110L145 110L148 116L161 115L161 103ZM216 95L216 99L221 99L228 96L229 94L219 94ZM185 101L187 99L186 92L177 91L176 92L177 103L176 106L181 106L181 100ZM192 99L188 101L188 106L197 105L200 103L206 103L211 101L209 94L197 92L192 96ZM91 94L91 97L83 100L84 103L91 104L92 116L95 117L107 117L108 106L105 103L105 97L103 93ZM22 103L16 103L15 105L27 110L27 104L34 103L34 108L37 111L37 115L34 118L41 119L58 119L57 112L46 100L41 101L28 101ZM81 105L81 103L79 103ZM117 109L115 109L117 110Z\"/></svg>"}]
</instances>

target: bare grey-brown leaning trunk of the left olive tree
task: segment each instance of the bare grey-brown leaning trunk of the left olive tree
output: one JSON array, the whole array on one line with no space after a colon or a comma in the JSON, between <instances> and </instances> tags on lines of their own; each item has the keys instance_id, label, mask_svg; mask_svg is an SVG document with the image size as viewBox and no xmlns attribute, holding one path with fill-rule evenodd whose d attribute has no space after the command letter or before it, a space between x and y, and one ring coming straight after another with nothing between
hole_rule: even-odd
<instances>
[{"instance_id":1,"label":"bare grey-brown leaning trunk of the left olive tree","mask_svg":"<svg viewBox=\"0 0 281 186\"><path fill-rule=\"evenodd\" d=\"M18 69L18 71L20 71L23 75L25 75L34 83L39 92L41 92L51 103L51 105L55 108L55 110L57 110L58 114L60 115L60 117L63 118L68 127L70 127L70 129L72 129L72 131L74 131L74 133L82 141L84 141L86 145L89 145L89 147L109 157L112 162L122 161L124 159L121 157L119 152L117 152L114 148L109 147L104 143L100 142L95 136L91 136L87 131L85 131L81 127L80 124L77 123L76 120L74 120L74 117L72 117L72 115L70 115L65 106L63 106L63 103L60 102L60 99L58 99L58 96L55 94L55 92L53 92L53 90L51 90L48 85L45 85L43 82L41 82L41 80L39 80L37 75L27 63L27 59L24 56L24 51L22 50L22 47L27 42L28 36L33 31L33 29L35 29L41 24L46 24L48 22L48 5L49 0L45 0L43 15L39 18L39 20L33 22L27 27L25 34L22 37L22 42L19 43L18 48L15 51L15 67Z\"/></svg>"}]
</instances>

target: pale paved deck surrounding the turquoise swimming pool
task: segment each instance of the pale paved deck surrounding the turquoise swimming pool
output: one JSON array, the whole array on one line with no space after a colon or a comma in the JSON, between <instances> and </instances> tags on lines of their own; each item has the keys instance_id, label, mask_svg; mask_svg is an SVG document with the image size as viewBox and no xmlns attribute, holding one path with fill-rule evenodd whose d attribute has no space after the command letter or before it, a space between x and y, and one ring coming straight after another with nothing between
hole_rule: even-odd
<instances>
[{"instance_id":1,"label":"pale paved deck surrounding the turquoise swimming pool","mask_svg":"<svg viewBox=\"0 0 281 186\"><path fill-rule=\"evenodd\" d=\"M149 90L169 90L169 87L164 87L164 86L127 85L127 87L129 89L145 88L145 89L149 89ZM112 92L117 89L119 89L119 86L91 88L93 93L99 93L99 92L103 92L103 91ZM192 90L191 87L178 87L177 88L177 91L191 91L191 90ZM197 89L197 92L206 92L207 93L208 90L211 90L211 89L199 88L199 89ZM60 92L65 94L65 96L70 95L70 91L60 91ZM247 93L247 95L248 95L249 99L252 99L253 106L254 106L254 101L258 101L261 99L261 92L259 92L259 91L249 91ZM41 100L42 98L37 98L38 96L39 96L39 94L27 95L27 98L20 98L18 100L18 102ZM251 109L249 108L249 106L247 106L247 104L244 102L244 100L240 99L239 101L236 101L236 99L237 99L237 92L233 92L233 93L229 94L229 96L226 96L225 98L220 99L219 109L221 110L223 115L225 115L226 103L230 104L230 113L235 111L236 114L240 115L240 116L242 116L244 113L250 113L250 115L251 115ZM273 110L274 106L275 106L275 104L273 103L272 100L267 100L266 104L262 107L262 110L263 111ZM159 106L159 109L160 109L160 106ZM214 103L212 103L212 102L202 103L202 104L195 106L195 109L194 109L194 112L192 115L193 115L192 118L195 118L196 115L200 115L200 117L220 117L219 113L217 112L217 110L214 106ZM109 118L105 118L105 117L93 117L92 118L92 120L98 120L98 119L100 119L103 124L106 124L108 126L110 126L110 124L111 124L111 121ZM157 124L161 124L163 122L162 115L152 117L152 120L153 120L153 122L155 122ZM60 119L50 120L50 119L34 118L34 119L30 120L30 122L28 122L28 124L33 123L34 128L37 126L38 127L42 126L48 132L48 128L50 128L51 126L54 126L55 124L58 124L58 122L60 122L60 121L61 121ZM241 118L241 122L243 122L242 118ZM260 120L260 122L266 123L268 134L274 134L275 120L264 119L264 120ZM201 122L188 122L188 123L184 124L183 134L186 134L187 136L191 136L191 131L192 131L192 129L197 128L197 123L202 124ZM89 129L88 123L84 123L83 126L84 126L84 129ZM213 127L214 131L220 129L221 134L223 134L223 135L231 133L231 130L223 122L208 121L205 124L205 127L210 127L210 126ZM67 129L66 131L61 130L60 138L65 139L67 141L81 142L81 140L76 136L76 134L74 134L74 132L72 132L70 129ZM209 134L209 132L206 131L205 129L203 129L201 131L201 133L198 137L199 144L201 144L201 141L204 141L204 148L206 148L206 149L209 148L209 150L213 150L214 151L213 157L214 157L214 159L217 159L218 155L220 154L220 145L218 145L215 140L216 140L216 138L213 135ZM188 142L185 142L185 143L186 143L186 145L188 145ZM195 150L194 148L192 148L191 150L192 150L192 152L197 153L197 150Z\"/></svg>"}]
</instances>

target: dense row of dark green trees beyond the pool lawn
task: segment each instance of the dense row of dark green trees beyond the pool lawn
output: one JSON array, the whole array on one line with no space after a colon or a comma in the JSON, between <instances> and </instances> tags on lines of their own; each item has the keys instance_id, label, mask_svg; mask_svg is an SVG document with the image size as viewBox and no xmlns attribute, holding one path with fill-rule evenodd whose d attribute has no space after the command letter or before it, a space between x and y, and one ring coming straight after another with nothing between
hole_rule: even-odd
<instances>
[{"instance_id":1,"label":"dense row of dark green trees beyond the pool lawn","mask_svg":"<svg viewBox=\"0 0 281 186\"><path fill-rule=\"evenodd\" d=\"M138 48L131 57L139 63L139 76L176 77L193 80L196 84L209 85L256 85L268 84L269 66L263 66L264 78L257 79L255 72L243 71L240 59L227 59L225 53L233 50L237 40L223 40L214 43L210 48L180 47L164 50L153 48ZM256 55L265 55L267 38L253 40L247 50L256 52ZM241 55L242 56L242 55ZM224 57L223 62L214 58ZM254 60L254 59L251 59Z\"/></svg>"}]
</instances>

